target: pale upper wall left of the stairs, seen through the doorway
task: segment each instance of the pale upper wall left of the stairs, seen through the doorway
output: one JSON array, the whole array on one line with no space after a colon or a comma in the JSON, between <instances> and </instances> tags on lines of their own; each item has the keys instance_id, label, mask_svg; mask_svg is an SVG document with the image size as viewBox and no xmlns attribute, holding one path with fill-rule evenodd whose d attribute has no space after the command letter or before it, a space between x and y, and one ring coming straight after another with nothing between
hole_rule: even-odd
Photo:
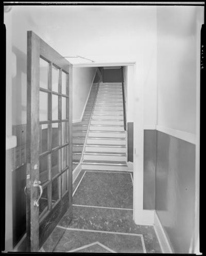
<instances>
[{"instance_id":1,"label":"pale upper wall left of the stairs, seen through the doorway","mask_svg":"<svg viewBox=\"0 0 206 256\"><path fill-rule=\"evenodd\" d=\"M96 68L73 68L73 122L80 122Z\"/></svg>"}]
</instances>

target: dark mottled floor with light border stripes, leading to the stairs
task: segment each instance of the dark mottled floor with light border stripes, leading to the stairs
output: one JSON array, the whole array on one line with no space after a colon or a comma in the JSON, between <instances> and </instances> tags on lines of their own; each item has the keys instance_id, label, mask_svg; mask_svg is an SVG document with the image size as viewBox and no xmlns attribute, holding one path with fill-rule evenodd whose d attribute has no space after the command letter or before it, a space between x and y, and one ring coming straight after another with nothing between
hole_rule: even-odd
<instances>
[{"instance_id":1,"label":"dark mottled floor with light border stripes, leading to the stairs","mask_svg":"<svg viewBox=\"0 0 206 256\"><path fill-rule=\"evenodd\" d=\"M46 252L161 253L155 230L132 219L130 172L82 170L73 188L73 220L61 219Z\"/></svg>"}]
</instances>

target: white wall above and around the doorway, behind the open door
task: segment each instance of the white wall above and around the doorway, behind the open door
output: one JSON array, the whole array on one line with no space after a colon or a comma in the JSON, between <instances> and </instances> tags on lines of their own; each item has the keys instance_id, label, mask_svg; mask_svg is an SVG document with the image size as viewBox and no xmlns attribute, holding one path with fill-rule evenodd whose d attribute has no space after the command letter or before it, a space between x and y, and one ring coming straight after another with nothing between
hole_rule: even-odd
<instances>
[{"instance_id":1,"label":"white wall above and around the doorway, behind the open door","mask_svg":"<svg viewBox=\"0 0 206 256\"><path fill-rule=\"evenodd\" d=\"M25 54L26 31L32 29L62 56L81 55L95 62L135 61L135 86L140 82L144 84L144 123L156 124L156 6L12 8L13 42ZM68 60L71 63L89 62L75 58ZM22 94L25 79L23 72ZM19 98L24 101L23 96L19 95ZM15 111L21 109L23 112L23 107L15 106L14 119L17 118ZM78 116L78 113L74 114ZM21 119L24 121L24 117ZM133 119L131 116L130 121Z\"/></svg>"}]
</instances>

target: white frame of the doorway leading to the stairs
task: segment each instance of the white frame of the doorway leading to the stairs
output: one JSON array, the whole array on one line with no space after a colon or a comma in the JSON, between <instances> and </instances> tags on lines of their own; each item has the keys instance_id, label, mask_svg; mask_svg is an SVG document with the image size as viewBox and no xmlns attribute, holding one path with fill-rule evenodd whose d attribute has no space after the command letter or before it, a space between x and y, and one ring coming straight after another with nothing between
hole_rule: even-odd
<instances>
[{"instance_id":1,"label":"white frame of the doorway leading to the stairs","mask_svg":"<svg viewBox=\"0 0 206 256\"><path fill-rule=\"evenodd\" d=\"M133 220L136 224L153 225L154 210L143 209L143 183L144 183L144 84L142 81L141 62L97 62L73 64L73 67L112 67L128 66L133 73L130 88L133 92L133 107L135 109L133 120ZM129 74L128 74L129 76ZM137 86L138 85L138 86ZM128 120L127 120L128 122Z\"/></svg>"}]
</instances>

